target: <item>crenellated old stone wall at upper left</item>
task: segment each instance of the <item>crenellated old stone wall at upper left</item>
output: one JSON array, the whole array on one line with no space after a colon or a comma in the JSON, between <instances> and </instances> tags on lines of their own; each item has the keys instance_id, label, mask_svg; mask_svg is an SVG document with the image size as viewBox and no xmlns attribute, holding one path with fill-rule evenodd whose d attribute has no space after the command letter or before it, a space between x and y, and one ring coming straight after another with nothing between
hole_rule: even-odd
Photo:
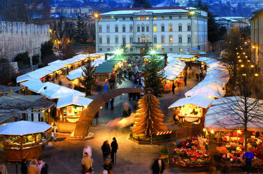
<instances>
[{"instance_id":1,"label":"crenellated old stone wall at upper left","mask_svg":"<svg viewBox=\"0 0 263 174\"><path fill-rule=\"evenodd\" d=\"M0 21L0 55L12 60L18 53L40 55L41 43L48 41L49 25Z\"/></svg>"}]
</instances>

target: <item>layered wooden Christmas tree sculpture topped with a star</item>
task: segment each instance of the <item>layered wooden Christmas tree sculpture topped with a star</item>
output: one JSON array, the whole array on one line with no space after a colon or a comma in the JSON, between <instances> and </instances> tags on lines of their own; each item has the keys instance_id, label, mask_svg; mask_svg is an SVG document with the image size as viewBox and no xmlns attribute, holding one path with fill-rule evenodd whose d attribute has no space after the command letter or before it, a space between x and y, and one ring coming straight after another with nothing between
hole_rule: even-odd
<instances>
[{"instance_id":1,"label":"layered wooden Christmas tree sculpture topped with a star","mask_svg":"<svg viewBox=\"0 0 263 174\"><path fill-rule=\"evenodd\" d=\"M138 102L139 108L135 113L135 123L131 127L131 131L135 134L144 134L151 136L153 132L160 132L167 130L164 126L164 115L161 110L157 109L160 102L153 95L153 91L146 89L146 94Z\"/></svg>"}]
</instances>

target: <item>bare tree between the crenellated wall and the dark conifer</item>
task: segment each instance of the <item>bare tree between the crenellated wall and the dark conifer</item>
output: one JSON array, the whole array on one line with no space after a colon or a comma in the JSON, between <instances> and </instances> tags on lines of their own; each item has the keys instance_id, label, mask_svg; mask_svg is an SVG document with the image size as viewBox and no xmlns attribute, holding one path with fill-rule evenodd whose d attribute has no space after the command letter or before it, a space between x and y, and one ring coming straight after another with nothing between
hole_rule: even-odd
<instances>
[{"instance_id":1,"label":"bare tree between the crenellated wall and the dark conifer","mask_svg":"<svg viewBox=\"0 0 263 174\"><path fill-rule=\"evenodd\" d=\"M57 12L57 14L52 16L52 19L53 25L51 28L54 31L54 36L58 39L59 50L61 50L70 30L74 27L72 19L68 17L68 14L63 12Z\"/></svg>"}]
</instances>

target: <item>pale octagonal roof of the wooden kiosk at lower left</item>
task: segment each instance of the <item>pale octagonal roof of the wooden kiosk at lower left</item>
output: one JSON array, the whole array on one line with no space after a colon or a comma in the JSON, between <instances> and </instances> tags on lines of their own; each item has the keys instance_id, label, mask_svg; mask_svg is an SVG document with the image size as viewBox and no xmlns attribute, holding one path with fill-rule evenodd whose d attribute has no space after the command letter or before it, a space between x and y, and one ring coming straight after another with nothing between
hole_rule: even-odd
<instances>
[{"instance_id":1,"label":"pale octagonal roof of the wooden kiosk at lower left","mask_svg":"<svg viewBox=\"0 0 263 174\"><path fill-rule=\"evenodd\" d=\"M0 125L0 135L28 135L45 132L51 126L44 122L17 121Z\"/></svg>"}]
</instances>

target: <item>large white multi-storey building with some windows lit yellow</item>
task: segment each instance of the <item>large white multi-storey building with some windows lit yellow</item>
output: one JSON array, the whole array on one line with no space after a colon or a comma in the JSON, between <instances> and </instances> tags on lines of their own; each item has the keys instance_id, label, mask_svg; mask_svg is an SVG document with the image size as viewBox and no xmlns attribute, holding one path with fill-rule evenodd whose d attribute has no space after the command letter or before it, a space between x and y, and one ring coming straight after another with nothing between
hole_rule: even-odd
<instances>
[{"instance_id":1,"label":"large white multi-storey building with some windows lit yellow","mask_svg":"<svg viewBox=\"0 0 263 174\"><path fill-rule=\"evenodd\" d=\"M115 51L126 43L129 53L147 44L157 52L208 49L207 12L195 7L120 8L96 15L96 52Z\"/></svg>"}]
</instances>

